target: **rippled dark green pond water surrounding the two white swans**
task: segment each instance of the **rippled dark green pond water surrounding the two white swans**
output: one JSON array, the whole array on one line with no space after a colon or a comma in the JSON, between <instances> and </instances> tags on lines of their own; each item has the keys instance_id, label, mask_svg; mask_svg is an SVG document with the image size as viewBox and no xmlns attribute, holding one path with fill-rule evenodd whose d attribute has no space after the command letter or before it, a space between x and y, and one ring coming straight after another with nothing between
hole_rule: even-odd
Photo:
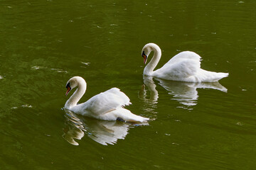
<instances>
[{"instance_id":1,"label":"rippled dark green pond water surrounding the two white swans","mask_svg":"<svg viewBox=\"0 0 256 170\"><path fill-rule=\"evenodd\" d=\"M0 169L255 169L255 8L252 0L1 0ZM146 79L147 42L161 47L157 68L191 50L203 69L230 76ZM117 86L127 108L152 121L64 111L73 76L87 81L81 102Z\"/></svg>"}]
</instances>

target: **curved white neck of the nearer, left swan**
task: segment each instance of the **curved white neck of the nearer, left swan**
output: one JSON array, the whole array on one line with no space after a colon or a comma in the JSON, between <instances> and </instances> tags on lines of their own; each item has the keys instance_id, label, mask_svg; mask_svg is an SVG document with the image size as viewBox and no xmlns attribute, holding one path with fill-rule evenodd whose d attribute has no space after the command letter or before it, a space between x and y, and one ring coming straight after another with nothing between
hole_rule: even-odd
<instances>
[{"instance_id":1,"label":"curved white neck of the nearer, left swan","mask_svg":"<svg viewBox=\"0 0 256 170\"><path fill-rule=\"evenodd\" d=\"M77 106L78 101L80 101L80 98L85 94L86 91L86 83L78 83L78 89L75 90L74 94L70 96L68 101L65 103L65 108L73 108L74 106Z\"/></svg>"}]
</instances>

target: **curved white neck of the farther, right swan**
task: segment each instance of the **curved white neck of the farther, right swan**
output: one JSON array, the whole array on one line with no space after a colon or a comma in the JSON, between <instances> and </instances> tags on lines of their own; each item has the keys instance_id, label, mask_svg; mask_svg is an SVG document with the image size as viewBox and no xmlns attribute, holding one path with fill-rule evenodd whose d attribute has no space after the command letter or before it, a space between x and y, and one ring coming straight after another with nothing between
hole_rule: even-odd
<instances>
[{"instance_id":1,"label":"curved white neck of the farther, right swan","mask_svg":"<svg viewBox=\"0 0 256 170\"><path fill-rule=\"evenodd\" d=\"M152 47L151 51L154 52L154 55L149 64L147 64L144 68L144 74L147 76L152 76L154 69L156 68L156 65L159 63L161 58L161 50L159 47Z\"/></svg>"}]
</instances>

